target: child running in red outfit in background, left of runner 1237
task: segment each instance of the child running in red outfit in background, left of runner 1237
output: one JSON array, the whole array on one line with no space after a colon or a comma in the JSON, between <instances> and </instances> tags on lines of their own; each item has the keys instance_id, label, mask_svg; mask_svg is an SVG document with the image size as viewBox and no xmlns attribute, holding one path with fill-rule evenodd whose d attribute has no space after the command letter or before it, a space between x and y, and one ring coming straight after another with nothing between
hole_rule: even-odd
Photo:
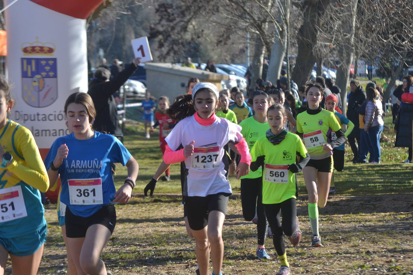
<instances>
[{"instance_id":1,"label":"child running in red outfit in background, left of runner 1237","mask_svg":"<svg viewBox=\"0 0 413 275\"><path fill-rule=\"evenodd\" d=\"M169 107L169 98L167 96L160 96L158 99L159 110L155 113L154 126L151 127L151 133L154 131L154 127L159 125L159 145L161 146L162 154L165 153L165 138L171 132L172 128L175 126L175 121L172 120L169 115L166 114L166 110ZM170 181L171 176L169 174L169 167L165 171L165 176L162 177L163 181Z\"/></svg>"}]
</instances>

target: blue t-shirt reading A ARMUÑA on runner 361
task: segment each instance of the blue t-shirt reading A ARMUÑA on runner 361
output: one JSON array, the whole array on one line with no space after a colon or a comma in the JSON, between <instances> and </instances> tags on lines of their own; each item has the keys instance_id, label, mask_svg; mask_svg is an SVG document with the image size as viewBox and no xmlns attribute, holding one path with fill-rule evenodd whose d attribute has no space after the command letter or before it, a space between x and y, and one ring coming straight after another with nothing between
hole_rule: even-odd
<instances>
[{"instance_id":1,"label":"blue t-shirt reading A ARMU\u00d1A on runner 361","mask_svg":"<svg viewBox=\"0 0 413 275\"><path fill-rule=\"evenodd\" d=\"M131 158L131 154L114 136L95 132L93 138L80 140L76 139L72 133L55 140L45 158L46 169L49 169L50 163L55 159L57 149L65 143L69 149L69 155L59 167L62 181L60 201L66 204L74 215L88 217L97 212L103 205L112 203L114 199L116 189L112 178L111 162L120 162L122 165L126 165L126 162ZM101 181L103 203L71 204L68 180L74 179ZM97 188L99 187L97 186ZM88 192L86 195L92 194L91 191ZM75 198L76 194L73 192L72 197Z\"/></svg>"}]
</instances>

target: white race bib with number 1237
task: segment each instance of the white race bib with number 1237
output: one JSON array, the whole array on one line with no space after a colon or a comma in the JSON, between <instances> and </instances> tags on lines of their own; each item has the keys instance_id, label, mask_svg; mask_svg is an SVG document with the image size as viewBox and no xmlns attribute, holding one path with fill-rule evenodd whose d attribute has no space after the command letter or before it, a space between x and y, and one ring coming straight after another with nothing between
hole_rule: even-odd
<instances>
[{"instance_id":1,"label":"white race bib with number 1237","mask_svg":"<svg viewBox=\"0 0 413 275\"><path fill-rule=\"evenodd\" d=\"M216 169L221 166L219 158L219 147L209 148L194 148L194 153L191 156L192 168L195 169Z\"/></svg>"}]
</instances>

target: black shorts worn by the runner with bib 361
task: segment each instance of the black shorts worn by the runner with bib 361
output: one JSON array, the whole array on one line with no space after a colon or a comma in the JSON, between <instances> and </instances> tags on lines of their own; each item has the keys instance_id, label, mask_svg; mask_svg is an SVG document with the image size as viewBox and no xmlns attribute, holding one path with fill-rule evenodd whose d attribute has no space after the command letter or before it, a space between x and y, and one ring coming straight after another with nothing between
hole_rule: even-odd
<instances>
[{"instance_id":1,"label":"black shorts worn by the runner with bib 361","mask_svg":"<svg viewBox=\"0 0 413 275\"><path fill-rule=\"evenodd\" d=\"M86 231L93 224L102 224L113 233L116 225L116 210L113 204L104 205L92 216L82 217L74 215L69 207L66 207L65 214L66 237L83 238Z\"/></svg>"}]
</instances>

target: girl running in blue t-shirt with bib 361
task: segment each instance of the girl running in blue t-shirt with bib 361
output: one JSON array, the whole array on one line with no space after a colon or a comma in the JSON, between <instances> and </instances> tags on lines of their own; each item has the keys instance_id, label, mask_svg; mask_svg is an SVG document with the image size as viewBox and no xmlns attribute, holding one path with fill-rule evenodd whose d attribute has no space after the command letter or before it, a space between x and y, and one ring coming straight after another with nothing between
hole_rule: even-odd
<instances>
[{"instance_id":1,"label":"girl running in blue t-shirt with bib 361","mask_svg":"<svg viewBox=\"0 0 413 275\"><path fill-rule=\"evenodd\" d=\"M126 203L138 176L138 162L116 137L91 129L96 110L86 93L71 94L64 105L73 133L56 139L45 163L52 182L62 181L69 251L77 274L107 274L100 254L116 224L114 203ZM116 192L111 163L128 168Z\"/></svg>"}]
</instances>

